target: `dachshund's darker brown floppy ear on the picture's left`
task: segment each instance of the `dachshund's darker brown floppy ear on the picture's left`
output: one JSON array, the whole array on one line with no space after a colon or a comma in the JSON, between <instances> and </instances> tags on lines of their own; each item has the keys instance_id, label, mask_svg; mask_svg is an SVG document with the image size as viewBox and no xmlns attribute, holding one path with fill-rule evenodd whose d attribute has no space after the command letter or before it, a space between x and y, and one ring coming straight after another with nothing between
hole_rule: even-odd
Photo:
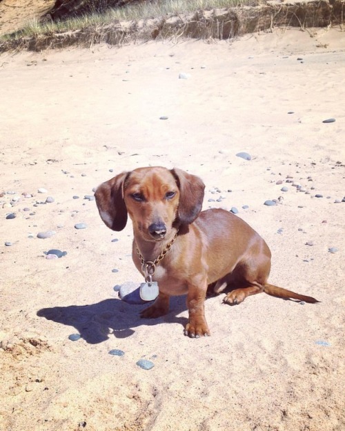
<instances>
[{"instance_id":1,"label":"dachshund's darker brown floppy ear on the picture's left","mask_svg":"<svg viewBox=\"0 0 345 431\"><path fill-rule=\"evenodd\" d=\"M128 172L101 183L95 192L99 215L112 230L123 230L127 223L127 208L124 201L124 183Z\"/></svg>"}]
</instances>

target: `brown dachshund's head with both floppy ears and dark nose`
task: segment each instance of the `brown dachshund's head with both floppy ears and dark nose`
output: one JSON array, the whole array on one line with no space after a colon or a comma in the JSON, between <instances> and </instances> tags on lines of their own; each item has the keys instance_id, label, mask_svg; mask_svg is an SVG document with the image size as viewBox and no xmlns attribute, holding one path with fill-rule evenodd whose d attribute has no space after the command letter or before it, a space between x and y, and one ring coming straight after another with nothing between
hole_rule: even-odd
<instances>
[{"instance_id":1,"label":"brown dachshund's head with both floppy ears and dark nose","mask_svg":"<svg viewBox=\"0 0 345 431\"><path fill-rule=\"evenodd\" d=\"M174 168L139 168L102 183L95 192L101 219L122 230L130 215L135 232L146 241L164 239L173 225L193 223L201 211L205 185Z\"/></svg>"}]
</instances>

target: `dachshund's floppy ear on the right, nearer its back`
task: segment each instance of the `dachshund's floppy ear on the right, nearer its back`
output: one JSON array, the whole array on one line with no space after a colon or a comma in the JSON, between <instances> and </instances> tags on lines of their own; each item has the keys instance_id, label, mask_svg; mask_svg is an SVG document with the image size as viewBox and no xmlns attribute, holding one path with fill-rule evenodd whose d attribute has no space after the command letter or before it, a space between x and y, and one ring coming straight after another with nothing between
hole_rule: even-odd
<instances>
[{"instance_id":1,"label":"dachshund's floppy ear on the right, nearer its back","mask_svg":"<svg viewBox=\"0 0 345 431\"><path fill-rule=\"evenodd\" d=\"M177 210L179 221L182 224L193 223L201 211L205 184L199 177L188 174L184 170L174 168L170 172L179 187L179 208Z\"/></svg>"}]
</instances>

